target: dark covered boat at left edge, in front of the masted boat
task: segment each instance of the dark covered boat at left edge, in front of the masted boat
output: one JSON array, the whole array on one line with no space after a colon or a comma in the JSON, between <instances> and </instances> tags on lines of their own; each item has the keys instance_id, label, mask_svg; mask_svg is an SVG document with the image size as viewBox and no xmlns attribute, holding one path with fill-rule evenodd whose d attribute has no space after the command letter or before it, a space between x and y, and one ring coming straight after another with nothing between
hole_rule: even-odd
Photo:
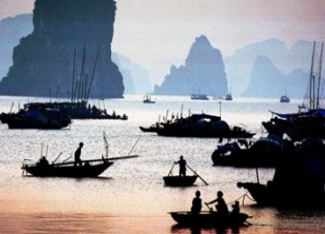
<instances>
[{"instance_id":1,"label":"dark covered boat at left edge, in front of the masted boat","mask_svg":"<svg viewBox=\"0 0 325 234\"><path fill-rule=\"evenodd\" d=\"M0 120L9 129L60 130L71 123L68 114L44 103L26 103L19 112L1 113Z\"/></svg>"}]
</instances>

